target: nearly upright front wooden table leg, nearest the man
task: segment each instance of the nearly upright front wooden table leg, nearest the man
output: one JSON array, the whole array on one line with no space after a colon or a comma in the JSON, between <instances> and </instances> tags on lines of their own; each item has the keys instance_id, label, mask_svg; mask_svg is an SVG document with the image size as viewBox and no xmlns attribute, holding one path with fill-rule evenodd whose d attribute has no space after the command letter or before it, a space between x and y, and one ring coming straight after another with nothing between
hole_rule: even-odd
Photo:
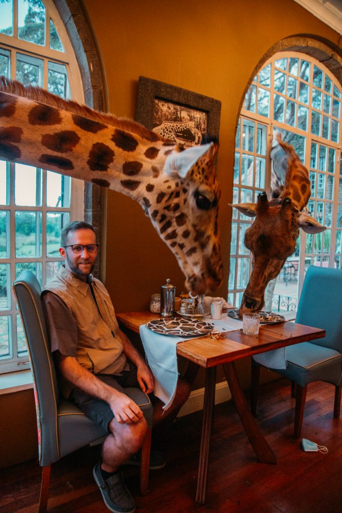
<instances>
[{"instance_id":1,"label":"nearly upright front wooden table leg, nearest the man","mask_svg":"<svg viewBox=\"0 0 342 513\"><path fill-rule=\"evenodd\" d=\"M196 490L197 504L205 504L206 501L209 449L215 402L215 385L216 367L209 367L206 369L206 382L204 391L202 435L200 439L198 478Z\"/></svg>"}]
</instances>

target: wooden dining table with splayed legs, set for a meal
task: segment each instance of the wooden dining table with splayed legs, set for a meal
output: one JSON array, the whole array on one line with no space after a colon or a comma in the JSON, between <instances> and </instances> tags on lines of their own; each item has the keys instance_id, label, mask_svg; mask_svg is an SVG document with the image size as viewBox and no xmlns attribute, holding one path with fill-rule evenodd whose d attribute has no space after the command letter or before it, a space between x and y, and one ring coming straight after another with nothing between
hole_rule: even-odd
<instances>
[{"instance_id":1,"label":"wooden dining table with splayed legs, set for a meal","mask_svg":"<svg viewBox=\"0 0 342 513\"><path fill-rule=\"evenodd\" d=\"M139 333L140 325L158 319L160 315L142 311L118 313L116 317L121 327ZM217 366L223 365L232 399L258 460L263 463L275 464L276 456L252 416L244 392L240 387L234 362L254 354L323 338L325 334L323 329L293 322L282 322L261 325L258 335L245 335L242 329L237 329L222 333L219 339L207 335L177 344L177 354L189 361L184 376L186 380L190 383L193 382L199 366L206 369L196 503L205 504L206 501Z\"/></svg>"}]
</instances>

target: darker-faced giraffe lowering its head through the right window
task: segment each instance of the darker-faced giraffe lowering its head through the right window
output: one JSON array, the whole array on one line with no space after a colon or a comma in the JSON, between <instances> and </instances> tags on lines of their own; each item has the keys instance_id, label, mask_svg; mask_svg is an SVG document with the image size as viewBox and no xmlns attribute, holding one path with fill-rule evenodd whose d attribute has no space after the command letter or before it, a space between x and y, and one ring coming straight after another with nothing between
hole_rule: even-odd
<instances>
[{"instance_id":1,"label":"darker-faced giraffe lowering its head through the right window","mask_svg":"<svg viewBox=\"0 0 342 513\"><path fill-rule=\"evenodd\" d=\"M276 135L271 159L272 199L269 201L266 192L261 192L256 204L232 205L243 214L255 217L245 233L245 245L252 252L253 260L252 273L239 307L240 317L245 312L263 308L266 286L277 277L293 253L299 228L307 233L326 229L306 211L311 195L309 172L293 146L283 142L280 134Z\"/></svg>"}]
</instances>

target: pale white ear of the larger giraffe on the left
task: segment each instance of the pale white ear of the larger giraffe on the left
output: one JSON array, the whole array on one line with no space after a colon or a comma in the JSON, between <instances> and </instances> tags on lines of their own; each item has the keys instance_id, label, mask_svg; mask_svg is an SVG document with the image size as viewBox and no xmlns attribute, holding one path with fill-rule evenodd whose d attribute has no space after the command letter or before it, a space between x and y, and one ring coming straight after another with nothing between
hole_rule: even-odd
<instances>
[{"instance_id":1,"label":"pale white ear of the larger giraffe on the left","mask_svg":"<svg viewBox=\"0 0 342 513\"><path fill-rule=\"evenodd\" d=\"M178 175L185 178L190 169L196 164L198 159L210 151L213 143L191 146L183 151L173 151L167 156L165 161L164 170L172 176Z\"/></svg>"}]
</instances>

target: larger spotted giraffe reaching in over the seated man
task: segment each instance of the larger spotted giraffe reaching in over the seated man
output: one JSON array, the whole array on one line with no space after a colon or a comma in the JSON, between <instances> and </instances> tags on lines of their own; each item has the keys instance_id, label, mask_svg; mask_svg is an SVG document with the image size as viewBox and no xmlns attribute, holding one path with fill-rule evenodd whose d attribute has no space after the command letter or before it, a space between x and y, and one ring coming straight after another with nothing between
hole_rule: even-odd
<instances>
[{"instance_id":1,"label":"larger spotted giraffe reaching in over the seated man","mask_svg":"<svg viewBox=\"0 0 342 513\"><path fill-rule=\"evenodd\" d=\"M131 120L0 78L0 158L130 196L174 253L193 293L222 282L217 142L184 146Z\"/></svg>"}]
</instances>

